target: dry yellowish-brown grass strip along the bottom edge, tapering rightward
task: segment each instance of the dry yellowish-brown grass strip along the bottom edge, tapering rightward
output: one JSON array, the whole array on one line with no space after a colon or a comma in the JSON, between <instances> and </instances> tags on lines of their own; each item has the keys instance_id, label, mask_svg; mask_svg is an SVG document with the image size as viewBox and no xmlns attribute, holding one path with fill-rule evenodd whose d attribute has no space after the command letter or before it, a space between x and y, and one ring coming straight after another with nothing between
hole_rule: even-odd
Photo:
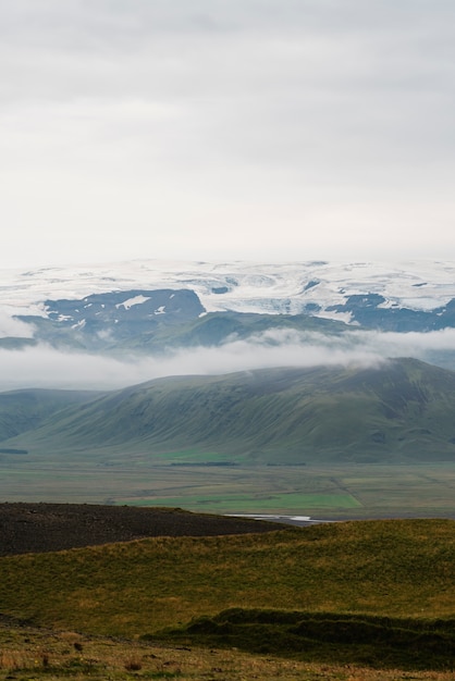
<instances>
[{"instance_id":1,"label":"dry yellowish-brown grass strip along the bottom edge, tapering rightward","mask_svg":"<svg viewBox=\"0 0 455 681\"><path fill-rule=\"evenodd\" d=\"M0 681L450 681L452 672L374 670L248 655L237 649L151 645L138 641L0 626Z\"/></svg>"}]
</instances>

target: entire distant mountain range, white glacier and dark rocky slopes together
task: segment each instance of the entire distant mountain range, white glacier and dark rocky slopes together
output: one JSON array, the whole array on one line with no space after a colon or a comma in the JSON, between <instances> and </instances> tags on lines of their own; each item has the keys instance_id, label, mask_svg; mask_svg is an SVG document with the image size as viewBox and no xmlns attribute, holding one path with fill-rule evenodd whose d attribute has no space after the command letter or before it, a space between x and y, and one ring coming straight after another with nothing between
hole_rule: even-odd
<instances>
[{"instance_id":1,"label":"entire distant mountain range, white glacier and dark rocky slopes together","mask_svg":"<svg viewBox=\"0 0 455 681\"><path fill-rule=\"evenodd\" d=\"M273 329L455 329L455 264L161 262L0 272L0 347L219 346ZM3 325L3 329L2 329Z\"/></svg>"}]
</instances>

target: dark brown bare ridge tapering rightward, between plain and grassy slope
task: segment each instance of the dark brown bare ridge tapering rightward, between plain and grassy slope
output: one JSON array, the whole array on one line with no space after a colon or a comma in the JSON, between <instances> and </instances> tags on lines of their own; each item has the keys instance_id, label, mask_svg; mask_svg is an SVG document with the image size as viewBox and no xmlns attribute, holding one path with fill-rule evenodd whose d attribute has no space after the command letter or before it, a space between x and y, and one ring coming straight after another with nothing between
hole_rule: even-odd
<instances>
[{"instance_id":1,"label":"dark brown bare ridge tapering rightward, between plain and grassy slope","mask_svg":"<svg viewBox=\"0 0 455 681\"><path fill-rule=\"evenodd\" d=\"M182 509L89 504L0 504L0 556L128 542L148 536L271 532L275 523Z\"/></svg>"}]
</instances>

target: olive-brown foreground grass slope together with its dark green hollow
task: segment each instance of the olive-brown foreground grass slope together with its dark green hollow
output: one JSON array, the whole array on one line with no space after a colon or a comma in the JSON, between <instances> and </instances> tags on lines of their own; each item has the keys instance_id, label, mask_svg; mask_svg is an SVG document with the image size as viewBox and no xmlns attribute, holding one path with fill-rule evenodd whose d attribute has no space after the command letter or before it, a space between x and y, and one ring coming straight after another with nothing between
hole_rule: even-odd
<instances>
[{"instance_id":1,"label":"olive-brown foreground grass slope together with its dark green hollow","mask_svg":"<svg viewBox=\"0 0 455 681\"><path fill-rule=\"evenodd\" d=\"M454 579L454 521L366 521L3 557L0 600L60 630L447 669Z\"/></svg>"}]
</instances>

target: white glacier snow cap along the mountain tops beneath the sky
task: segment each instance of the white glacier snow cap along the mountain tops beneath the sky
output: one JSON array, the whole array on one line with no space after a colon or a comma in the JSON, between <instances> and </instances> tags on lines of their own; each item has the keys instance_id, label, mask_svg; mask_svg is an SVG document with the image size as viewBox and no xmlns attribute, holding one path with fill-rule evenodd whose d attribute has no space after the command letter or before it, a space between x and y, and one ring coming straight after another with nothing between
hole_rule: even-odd
<instances>
[{"instance_id":1,"label":"white glacier snow cap along the mountain tops beneath the sky","mask_svg":"<svg viewBox=\"0 0 455 681\"><path fill-rule=\"evenodd\" d=\"M10 311L42 310L48 299L76 299L130 289L186 288L207 311L292 313L331 308L351 296L377 294L383 308L434 310L455 298L455 262L254 263L135 260L112 264L0 270L0 305ZM343 318L349 321L349 315Z\"/></svg>"}]
</instances>

